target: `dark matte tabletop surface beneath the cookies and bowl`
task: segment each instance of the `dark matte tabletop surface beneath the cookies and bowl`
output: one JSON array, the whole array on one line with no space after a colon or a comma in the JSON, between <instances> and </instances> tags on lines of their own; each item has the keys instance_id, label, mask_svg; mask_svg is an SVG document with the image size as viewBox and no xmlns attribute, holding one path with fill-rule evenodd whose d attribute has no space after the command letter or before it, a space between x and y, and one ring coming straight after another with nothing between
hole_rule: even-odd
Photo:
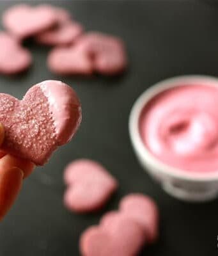
<instances>
[{"instance_id":1,"label":"dark matte tabletop surface beneath the cookies and bowl","mask_svg":"<svg viewBox=\"0 0 218 256\"><path fill-rule=\"evenodd\" d=\"M19 2L0 1L0 14L15 3ZM114 78L54 76L45 63L49 47L30 43L34 63L29 72L0 77L0 91L19 98L35 83L62 79L77 91L83 109L74 140L25 180L12 211L0 224L0 256L77 256L81 232L98 223L103 212L116 209L130 192L152 196L160 208L160 239L141 255L217 255L218 200L187 204L166 195L137 163L127 125L134 100L157 81L182 74L218 76L218 4L209 0L52 3L70 10L87 30L121 36L130 68ZM98 214L77 215L63 207L63 168L78 157L100 161L120 182L116 195Z\"/></svg>"}]
</instances>

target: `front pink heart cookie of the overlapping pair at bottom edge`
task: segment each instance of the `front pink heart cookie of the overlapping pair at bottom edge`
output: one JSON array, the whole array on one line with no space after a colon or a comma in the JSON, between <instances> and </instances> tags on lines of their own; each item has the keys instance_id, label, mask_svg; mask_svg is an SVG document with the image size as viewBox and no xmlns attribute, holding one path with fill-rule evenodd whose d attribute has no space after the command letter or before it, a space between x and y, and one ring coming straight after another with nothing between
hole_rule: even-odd
<instances>
[{"instance_id":1,"label":"front pink heart cookie of the overlapping pair at bottom edge","mask_svg":"<svg viewBox=\"0 0 218 256\"><path fill-rule=\"evenodd\" d=\"M136 221L120 215L110 225L90 227L81 236L82 256L134 256L145 241L144 231Z\"/></svg>"}]
</instances>

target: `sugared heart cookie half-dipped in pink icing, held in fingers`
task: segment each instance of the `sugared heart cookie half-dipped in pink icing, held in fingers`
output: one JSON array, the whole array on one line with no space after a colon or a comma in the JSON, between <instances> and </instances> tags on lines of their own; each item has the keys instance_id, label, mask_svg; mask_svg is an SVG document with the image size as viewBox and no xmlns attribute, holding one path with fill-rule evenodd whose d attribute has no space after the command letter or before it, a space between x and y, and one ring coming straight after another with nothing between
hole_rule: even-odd
<instances>
[{"instance_id":1,"label":"sugared heart cookie half-dipped in pink icing, held in fingers","mask_svg":"<svg viewBox=\"0 0 218 256\"><path fill-rule=\"evenodd\" d=\"M22 100L0 93L0 122L6 132L1 149L42 165L74 136L81 122L81 104L67 84L43 81Z\"/></svg>"}]
</instances>

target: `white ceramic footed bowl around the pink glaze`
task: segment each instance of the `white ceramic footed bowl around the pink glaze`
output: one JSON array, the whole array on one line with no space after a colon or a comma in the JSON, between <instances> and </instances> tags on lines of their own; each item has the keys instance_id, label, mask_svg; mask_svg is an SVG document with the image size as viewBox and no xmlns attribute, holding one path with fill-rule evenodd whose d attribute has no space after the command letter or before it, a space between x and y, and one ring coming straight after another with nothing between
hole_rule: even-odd
<instances>
[{"instance_id":1,"label":"white ceramic footed bowl around the pink glaze","mask_svg":"<svg viewBox=\"0 0 218 256\"><path fill-rule=\"evenodd\" d=\"M161 81L146 90L132 107L129 118L129 132L130 140L132 141L139 163L141 163L144 170L150 173L155 180L160 182L162 188L167 193L182 200L203 202L212 200L218 195L218 168L217 172L191 173L169 166L159 161L159 159L150 153L139 134L139 117L148 101L155 95L169 88L196 83L218 86L218 79L210 76L173 77Z\"/></svg>"}]
</instances>

